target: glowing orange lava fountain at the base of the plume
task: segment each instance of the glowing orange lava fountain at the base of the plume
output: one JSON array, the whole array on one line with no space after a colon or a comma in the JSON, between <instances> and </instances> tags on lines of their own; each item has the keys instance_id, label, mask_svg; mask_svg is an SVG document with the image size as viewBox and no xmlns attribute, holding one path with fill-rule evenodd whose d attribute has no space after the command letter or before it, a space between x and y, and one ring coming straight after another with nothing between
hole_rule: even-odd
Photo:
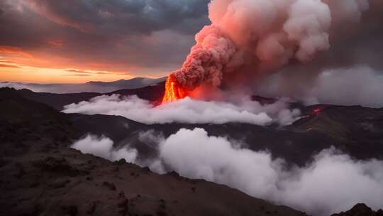
<instances>
[{"instance_id":1,"label":"glowing orange lava fountain at the base of the plume","mask_svg":"<svg viewBox=\"0 0 383 216\"><path fill-rule=\"evenodd\" d=\"M174 75L170 75L165 84L165 95L162 99L162 104L167 102L174 102L177 99L187 97L187 89L182 87Z\"/></svg>"}]
</instances>

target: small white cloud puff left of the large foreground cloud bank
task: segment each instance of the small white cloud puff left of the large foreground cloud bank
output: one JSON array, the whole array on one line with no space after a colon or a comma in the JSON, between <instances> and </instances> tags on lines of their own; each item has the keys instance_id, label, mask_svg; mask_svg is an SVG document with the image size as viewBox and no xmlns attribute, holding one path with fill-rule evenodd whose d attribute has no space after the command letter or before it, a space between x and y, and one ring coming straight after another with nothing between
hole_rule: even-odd
<instances>
[{"instance_id":1,"label":"small white cloud puff left of the large foreground cloud bank","mask_svg":"<svg viewBox=\"0 0 383 216\"><path fill-rule=\"evenodd\" d=\"M94 156L106 158L110 161L117 161L124 158L127 162L133 163L136 161L138 151L134 148L113 148L113 141L105 136L87 135L84 139L76 141L72 148L75 148L82 153L90 153Z\"/></svg>"}]
</instances>

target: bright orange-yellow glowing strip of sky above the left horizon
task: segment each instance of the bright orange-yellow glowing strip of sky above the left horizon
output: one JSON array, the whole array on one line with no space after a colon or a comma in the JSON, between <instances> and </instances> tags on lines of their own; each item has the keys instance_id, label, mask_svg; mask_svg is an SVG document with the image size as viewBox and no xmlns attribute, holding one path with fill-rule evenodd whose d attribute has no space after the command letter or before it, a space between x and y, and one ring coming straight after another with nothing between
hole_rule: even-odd
<instances>
[{"instance_id":1,"label":"bright orange-yellow glowing strip of sky above the left horizon","mask_svg":"<svg viewBox=\"0 0 383 216\"><path fill-rule=\"evenodd\" d=\"M52 42L52 45L60 46L60 43ZM76 65L65 67L65 59L50 56L44 59L20 48L0 46L0 82L84 83L135 77L129 72L102 70L106 66L111 68L102 63L87 63L87 68L77 68Z\"/></svg>"}]
</instances>

